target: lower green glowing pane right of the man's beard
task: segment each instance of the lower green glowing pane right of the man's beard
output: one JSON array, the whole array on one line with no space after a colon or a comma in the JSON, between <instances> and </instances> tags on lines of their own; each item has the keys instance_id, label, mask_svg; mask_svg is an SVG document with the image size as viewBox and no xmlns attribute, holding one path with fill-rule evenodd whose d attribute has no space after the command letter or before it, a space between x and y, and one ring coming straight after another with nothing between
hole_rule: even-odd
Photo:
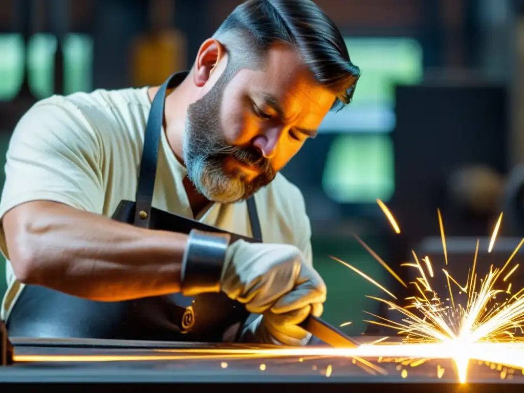
<instances>
[{"instance_id":1,"label":"lower green glowing pane right of the man's beard","mask_svg":"<svg viewBox=\"0 0 524 393\"><path fill-rule=\"evenodd\" d=\"M343 134L331 144L322 187L339 203L386 202L395 191L394 170L389 134Z\"/></svg>"}]
</instances>

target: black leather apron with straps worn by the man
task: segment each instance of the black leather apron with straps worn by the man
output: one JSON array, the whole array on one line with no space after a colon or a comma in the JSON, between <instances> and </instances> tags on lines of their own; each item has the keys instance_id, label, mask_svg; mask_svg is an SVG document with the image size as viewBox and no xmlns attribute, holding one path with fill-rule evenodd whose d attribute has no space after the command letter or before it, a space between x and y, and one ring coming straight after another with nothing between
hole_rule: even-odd
<instances>
[{"instance_id":1,"label":"black leather apron with straps worn by the man","mask_svg":"<svg viewBox=\"0 0 524 393\"><path fill-rule=\"evenodd\" d=\"M122 201L112 218L163 231L188 234L197 228L224 233L226 231L219 228L151 206L166 91L180 84L184 77L185 73L172 75L156 94L147 121L136 203ZM247 201L247 208L254 238L231 234L232 241L242 238L261 242L254 198ZM176 293L98 302L28 285L9 315L7 328L12 337L222 342L224 333L238 332L248 316L242 304L227 298L224 293L205 293L194 298Z\"/></svg>"}]
</instances>

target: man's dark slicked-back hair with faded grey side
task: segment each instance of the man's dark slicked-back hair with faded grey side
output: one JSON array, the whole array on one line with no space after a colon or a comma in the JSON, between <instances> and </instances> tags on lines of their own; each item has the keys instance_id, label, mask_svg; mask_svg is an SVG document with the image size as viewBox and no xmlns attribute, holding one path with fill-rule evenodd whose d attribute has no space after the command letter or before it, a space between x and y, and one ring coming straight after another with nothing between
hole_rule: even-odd
<instances>
[{"instance_id":1,"label":"man's dark slicked-back hair with faded grey side","mask_svg":"<svg viewBox=\"0 0 524 393\"><path fill-rule=\"evenodd\" d=\"M311 0L248 0L236 7L214 36L225 47L227 79L239 68L261 69L271 45L298 50L316 81L333 93L333 109L353 98L360 76L339 29Z\"/></svg>"}]
</instances>

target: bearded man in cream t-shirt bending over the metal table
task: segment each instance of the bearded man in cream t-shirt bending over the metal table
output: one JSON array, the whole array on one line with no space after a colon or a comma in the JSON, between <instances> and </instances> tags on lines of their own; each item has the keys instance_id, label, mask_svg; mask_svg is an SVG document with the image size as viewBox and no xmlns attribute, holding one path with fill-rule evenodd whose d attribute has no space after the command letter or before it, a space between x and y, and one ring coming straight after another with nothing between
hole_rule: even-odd
<instances>
[{"instance_id":1,"label":"bearded man in cream t-shirt bending over the metal table","mask_svg":"<svg viewBox=\"0 0 524 393\"><path fill-rule=\"evenodd\" d=\"M221 291L261 314L244 337L307 343L310 335L297 324L322 313L326 288L312 267L303 197L278 171L316 135L326 113L351 101L358 76L339 30L314 3L249 0L168 89L152 204L254 236L256 220L246 212L254 200L261 244L110 219L121 201L140 193L151 105L163 103L162 89L171 84L37 103L10 141L0 203L0 246L10 261L2 307L8 328L35 324L35 307L23 316L17 309L49 293L125 302ZM140 210L137 220L148 214ZM54 292L28 292L37 287Z\"/></svg>"}]
</instances>

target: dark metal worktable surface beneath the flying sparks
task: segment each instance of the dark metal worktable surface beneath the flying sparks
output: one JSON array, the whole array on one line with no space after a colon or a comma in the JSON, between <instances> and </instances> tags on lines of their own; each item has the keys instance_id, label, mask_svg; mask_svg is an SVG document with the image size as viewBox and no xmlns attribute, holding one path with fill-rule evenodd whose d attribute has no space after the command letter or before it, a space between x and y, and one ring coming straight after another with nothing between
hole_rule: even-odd
<instances>
[{"instance_id":1,"label":"dark metal worktable surface beneath the flying sparks","mask_svg":"<svg viewBox=\"0 0 524 393\"><path fill-rule=\"evenodd\" d=\"M288 393L294 387L346 392L348 388L374 387L418 392L524 388L521 370L476 361L470 363L467 385L461 386L457 384L453 362L447 359L411 366L376 358L362 363L348 357L212 354L212 348L249 348L241 344L41 339L12 339L12 342L15 362L0 367L0 384L60 383L78 387L92 383L154 383L155 391L159 384L166 384L171 391L173 385L185 384L215 383L237 391L249 388L246 384L269 384L267 388ZM211 350L203 354L183 352L187 348Z\"/></svg>"}]
</instances>

